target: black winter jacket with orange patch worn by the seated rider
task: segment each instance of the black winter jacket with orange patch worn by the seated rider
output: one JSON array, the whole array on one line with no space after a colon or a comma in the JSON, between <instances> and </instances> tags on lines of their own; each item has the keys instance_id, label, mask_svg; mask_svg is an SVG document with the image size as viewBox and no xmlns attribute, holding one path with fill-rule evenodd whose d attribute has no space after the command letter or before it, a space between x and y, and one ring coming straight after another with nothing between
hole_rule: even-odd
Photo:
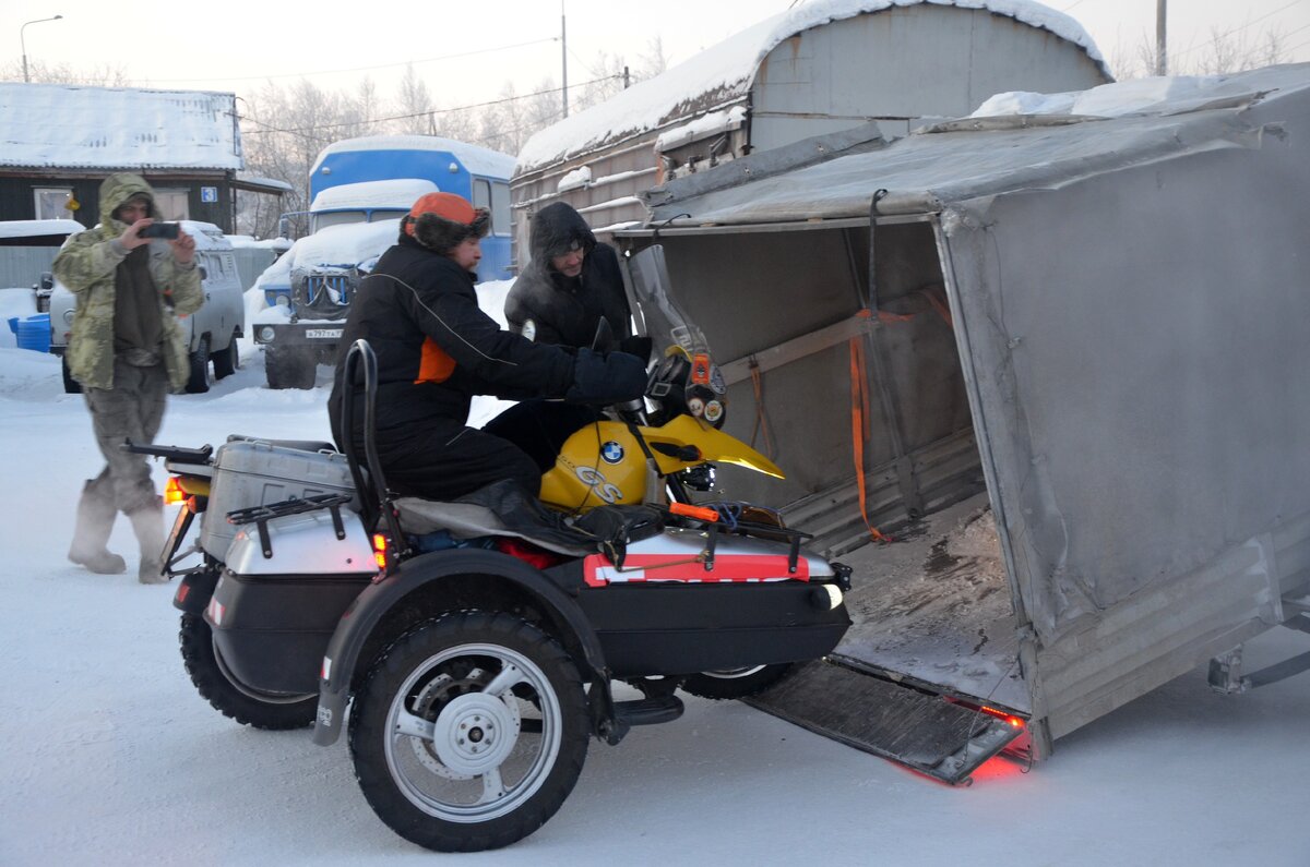
<instances>
[{"instance_id":1,"label":"black winter jacket with orange patch worn by the seated rider","mask_svg":"<svg viewBox=\"0 0 1310 867\"><path fill-rule=\"evenodd\" d=\"M329 398L333 436L342 444L343 367L364 338L377 356L377 432L443 419L465 424L474 394L507 399L562 397L575 359L534 344L478 309L473 275L453 259L402 237L359 284L350 305ZM363 401L356 402L355 435Z\"/></svg>"}]
</instances>

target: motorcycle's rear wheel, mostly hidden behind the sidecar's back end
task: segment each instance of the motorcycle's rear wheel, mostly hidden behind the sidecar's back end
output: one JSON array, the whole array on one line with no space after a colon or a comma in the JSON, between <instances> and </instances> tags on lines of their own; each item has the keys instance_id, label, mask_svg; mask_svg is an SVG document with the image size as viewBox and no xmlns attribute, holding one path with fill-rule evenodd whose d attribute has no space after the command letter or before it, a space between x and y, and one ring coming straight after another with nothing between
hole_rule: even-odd
<instances>
[{"instance_id":1,"label":"motorcycle's rear wheel, mostly hidden behind the sidecar's back end","mask_svg":"<svg viewBox=\"0 0 1310 867\"><path fill-rule=\"evenodd\" d=\"M267 693L237 681L214 646L214 631L199 614L182 614L182 661L191 682L215 709L242 726L283 731L304 728L318 712L316 693Z\"/></svg>"}]
</instances>

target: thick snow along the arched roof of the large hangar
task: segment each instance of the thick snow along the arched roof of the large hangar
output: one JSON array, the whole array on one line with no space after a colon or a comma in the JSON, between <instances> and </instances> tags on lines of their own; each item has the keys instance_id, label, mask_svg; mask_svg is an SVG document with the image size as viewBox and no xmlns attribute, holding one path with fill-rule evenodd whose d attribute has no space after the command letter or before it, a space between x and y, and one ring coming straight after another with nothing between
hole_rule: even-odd
<instances>
[{"instance_id":1,"label":"thick snow along the arched roof of the large hangar","mask_svg":"<svg viewBox=\"0 0 1310 867\"><path fill-rule=\"evenodd\" d=\"M570 115L541 130L519 153L519 173L531 172L610 139L635 135L677 119L685 105L702 94L718 93L718 107L744 96L755 72L774 47L795 34L832 21L920 4L986 9L1034 28L1049 30L1082 47L1110 75L1104 58L1077 21L1035 0L810 0L747 28L654 79Z\"/></svg>"}]
</instances>

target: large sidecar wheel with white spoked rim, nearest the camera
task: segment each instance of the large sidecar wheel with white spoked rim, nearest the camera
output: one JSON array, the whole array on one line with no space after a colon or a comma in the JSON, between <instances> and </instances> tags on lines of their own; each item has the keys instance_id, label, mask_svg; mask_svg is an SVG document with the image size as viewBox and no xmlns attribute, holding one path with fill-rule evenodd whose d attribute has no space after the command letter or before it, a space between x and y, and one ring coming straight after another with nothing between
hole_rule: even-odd
<instances>
[{"instance_id":1,"label":"large sidecar wheel with white spoked rim, nearest the camera","mask_svg":"<svg viewBox=\"0 0 1310 867\"><path fill-rule=\"evenodd\" d=\"M401 636L350 714L373 812L438 851L499 849L541 828L578 782L590 736L563 647L517 617L477 610Z\"/></svg>"}]
</instances>

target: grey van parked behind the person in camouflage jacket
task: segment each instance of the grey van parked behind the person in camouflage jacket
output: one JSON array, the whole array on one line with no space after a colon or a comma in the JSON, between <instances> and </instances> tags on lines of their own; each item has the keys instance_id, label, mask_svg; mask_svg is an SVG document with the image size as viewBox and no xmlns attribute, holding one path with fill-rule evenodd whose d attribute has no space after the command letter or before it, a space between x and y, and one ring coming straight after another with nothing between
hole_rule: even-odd
<instances>
[{"instance_id":1,"label":"grey van parked behind the person in camouflage jacket","mask_svg":"<svg viewBox=\"0 0 1310 867\"><path fill-rule=\"evenodd\" d=\"M186 390L200 394L210 390L210 367L214 378L231 376L241 367L237 338L245 334L245 300L241 278L231 242L212 223L183 220L182 228L195 238L195 261L200 268L204 304L191 316L181 320L187 335L191 375ZM64 390L81 392L81 385L68 376L68 337L73 323L76 296L58 280L51 279L50 291L50 351L63 359Z\"/></svg>"}]
</instances>

